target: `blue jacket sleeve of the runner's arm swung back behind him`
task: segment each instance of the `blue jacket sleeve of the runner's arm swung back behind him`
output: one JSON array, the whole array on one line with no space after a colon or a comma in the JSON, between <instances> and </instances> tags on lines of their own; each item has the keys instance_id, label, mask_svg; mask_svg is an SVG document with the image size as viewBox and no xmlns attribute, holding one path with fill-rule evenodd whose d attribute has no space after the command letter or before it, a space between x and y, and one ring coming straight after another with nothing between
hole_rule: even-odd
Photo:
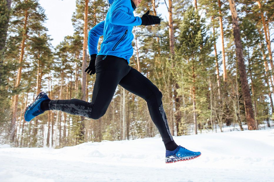
<instances>
[{"instance_id":1,"label":"blue jacket sleeve of the runner's arm swung back behind him","mask_svg":"<svg viewBox=\"0 0 274 182\"><path fill-rule=\"evenodd\" d=\"M98 54L97 46L99 37L103 35L105 21L102 21L95 25L88 32L88 52L89 55Z\"/></svg>"}]
</instances>

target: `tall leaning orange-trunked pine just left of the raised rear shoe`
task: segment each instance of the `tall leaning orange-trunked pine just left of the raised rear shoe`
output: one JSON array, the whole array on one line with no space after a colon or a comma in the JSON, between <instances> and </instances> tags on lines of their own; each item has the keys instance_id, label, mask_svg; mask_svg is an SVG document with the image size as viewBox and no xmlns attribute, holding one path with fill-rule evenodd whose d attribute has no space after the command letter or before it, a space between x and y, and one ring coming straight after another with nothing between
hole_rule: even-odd
<instances>
[{"instance_id":1,"label":"tall leaning orange-trunked pine just left of the raised rear shoe","mask_svg":"<svg viewBox=\"0 0 274 182\"><path fill-rule=\"evenodd\" d=\"M15 0L14 1L14 13L11 17L13 28L11 32L14 32L15 36L21 39L19 68L14 86L15 95L13 97L13 112L11 119L11 141L14 140L14 127L17 120L17 105L18 105L18 93L20 93L20 84L22 78L22 69L24 69L25 59L27 58L26 45L31 42L31 38L34 37L37 31L41 30L42 23L44 23L46 16L44 9L40 7L39 3L35 0ZM11 38L12 40L12 38Z\"/></svg>"}]
</instances>

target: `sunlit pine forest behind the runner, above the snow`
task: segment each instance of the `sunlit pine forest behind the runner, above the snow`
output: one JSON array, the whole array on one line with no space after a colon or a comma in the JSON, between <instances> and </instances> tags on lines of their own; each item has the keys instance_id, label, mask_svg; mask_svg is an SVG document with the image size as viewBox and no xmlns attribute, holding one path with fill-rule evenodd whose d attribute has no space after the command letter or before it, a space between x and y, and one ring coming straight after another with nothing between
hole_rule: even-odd
<instances>
[{"instance_id":1,"label":"sunlit pine forest behind the runner, above the snow","mask_svg":"<svg viewBox=\"0 0 274 182\"><path fill-rule=\"evenodd\" d=\"M161 4L168 16L157 11ZM40 91L51 99L91 101L95 75L83 72L88 31L105 19L108 5L76 0L74 34L55 47L39 0L0 0L0 5L1 143L60 148L158 134L146 101L120 86L98 120L47 111L25 122L24 110ZM141 2L135 16L150 10L162 21L133 28L130 66L163 93L172 135L273 126L273 7L273 0Z\"/></svg>"}]
</instances>

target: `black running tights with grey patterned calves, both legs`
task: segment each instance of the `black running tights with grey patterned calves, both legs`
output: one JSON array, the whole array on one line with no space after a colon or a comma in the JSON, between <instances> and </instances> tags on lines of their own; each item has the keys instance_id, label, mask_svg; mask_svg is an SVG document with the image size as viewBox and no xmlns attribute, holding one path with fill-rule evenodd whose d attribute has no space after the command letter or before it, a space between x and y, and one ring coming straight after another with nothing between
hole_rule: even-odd
<instances>
[{"instance_id":1,"label":"black running tights with grey patterned calves, both legs","mask_svg":"<svg viewBox=\"0 0 274 182\"><path fill-rule=\"evenodd\" d=\"M158 128L164 144L173 141L163 109L163 95L149 79L130 67L126 59L116 56L98 55L95 67L96 80L91 102L79 99L51 100L49 109L98 119L106 113L119 84L146 100L151 119Z\"/></svg>"}]
</instances>

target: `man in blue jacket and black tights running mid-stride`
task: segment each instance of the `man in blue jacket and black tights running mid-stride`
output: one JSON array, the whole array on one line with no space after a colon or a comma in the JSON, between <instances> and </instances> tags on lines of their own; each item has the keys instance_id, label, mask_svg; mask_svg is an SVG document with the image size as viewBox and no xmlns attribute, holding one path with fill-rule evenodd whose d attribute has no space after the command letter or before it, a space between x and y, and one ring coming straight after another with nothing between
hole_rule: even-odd
<instances>
[{"instance_id":1,"label":"man in blue jacket and black tights running mid-stride","mask_svg":"<svg viewBox=\"0 0 274 182\"><path fill-rule=\"evenodd\" d=\"M24 118L30 121L46 110L61 110L92 119L101 118L106 113L119 84L147 102L151 119L166 147L166 163L191 160L199 157L201 152L192 152L174 142L163 109L162 93L149 79L128 65L133 55L133 26L161 22L158 16L149 15L149 11L142 17L134 17L133 11L141 1L107 0L109 9L106 20L98 23L89 32L88 49L91 59L85 72L90 75L96 73L92 101L50 100L45 92L41 92L26 108ZM102 35L103 42L98 53L98 40Z\"/></svg>"}]
</instances>

